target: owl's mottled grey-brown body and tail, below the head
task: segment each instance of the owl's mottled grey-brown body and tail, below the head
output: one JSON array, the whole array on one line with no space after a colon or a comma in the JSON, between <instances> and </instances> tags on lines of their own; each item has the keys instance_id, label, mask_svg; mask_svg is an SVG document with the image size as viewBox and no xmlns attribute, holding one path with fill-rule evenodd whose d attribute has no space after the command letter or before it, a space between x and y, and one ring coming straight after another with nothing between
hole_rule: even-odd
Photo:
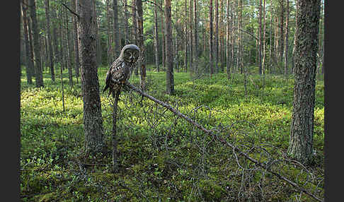
<instances>
[{"instance_id":1,"label":"owl's mottled grey-brown body and tail, below the head","mask_svg":"<svg viewBox=\"0 0 344 202\"><path fill-rule=\"evenodd\" d=\"M110 95L113 90L120 90L122 86L118 83L125 83L129 80L132 73L132 66L133 64L126 64L125 61L116 59L113 64L111 64L110 69L106 73L105 88L103 90L103 93L108 88L108 95Z\"/></svg>"}]
</instances>

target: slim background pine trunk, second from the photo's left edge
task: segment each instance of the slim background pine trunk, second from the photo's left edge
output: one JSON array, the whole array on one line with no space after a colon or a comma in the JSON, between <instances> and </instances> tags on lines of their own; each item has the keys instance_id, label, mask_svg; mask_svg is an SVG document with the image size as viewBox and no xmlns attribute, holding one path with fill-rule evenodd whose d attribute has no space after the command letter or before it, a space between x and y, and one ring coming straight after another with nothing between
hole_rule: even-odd
<instances>
[{"instance_id":1,"label":"slim background pine trunk, second from the photo's left edge","mask_svg":"<svg viewBox=\"0 0 344 202\"><path fill-rule=\"evenodd\" d=\"M33 46L35 51L35 73L36 73L36 87L44 87L43 73L42 73L42 61L40 56L40 32L38 30L37 18L36 18L36 2L35 0L29 0L30 16L33 24Z\"/></svg>"}]
</instances>

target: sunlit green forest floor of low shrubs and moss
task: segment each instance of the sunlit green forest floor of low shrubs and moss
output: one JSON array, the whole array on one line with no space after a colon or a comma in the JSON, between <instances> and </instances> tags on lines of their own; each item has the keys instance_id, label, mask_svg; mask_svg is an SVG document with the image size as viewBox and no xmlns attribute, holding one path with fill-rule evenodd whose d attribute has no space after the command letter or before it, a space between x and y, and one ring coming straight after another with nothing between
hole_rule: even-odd
<instances>
[{"instance_id":1,"label":"sunlit green forest floor of low shrubs and moss","mask_svg":"<svg viewBox=\"0 0 344 202\"><path fill-rule=\"evenodd\" d=\"M98 69L100 90L108 67ZM123 92L119 102L119 172L111 170L112 98L101 93L108 153L84 155L81 85L64 70L44 88L21 76L22 201L314 201L257 167L164 107ZM314 163L287 162L292 76L201 76L174 73L176 95L166 95L164 72L147 71L147 90L212 129L251 158L323 198L324 83L316 81ZM130 83L139 86L139 76Z\"/></svg>"}]
</instances>

